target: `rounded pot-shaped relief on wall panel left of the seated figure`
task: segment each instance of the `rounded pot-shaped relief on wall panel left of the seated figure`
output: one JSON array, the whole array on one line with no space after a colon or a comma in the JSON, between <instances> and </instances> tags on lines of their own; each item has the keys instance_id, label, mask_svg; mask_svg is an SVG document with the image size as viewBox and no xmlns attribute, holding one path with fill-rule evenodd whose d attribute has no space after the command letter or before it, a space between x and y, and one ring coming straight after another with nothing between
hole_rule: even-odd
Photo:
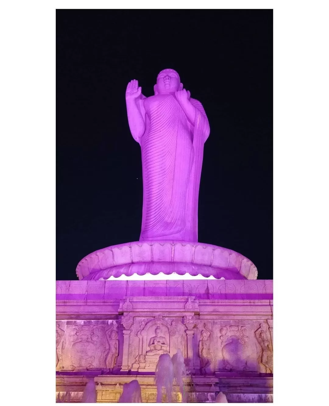
<instances>
[{"instance_id":1,"label":"rounded pot-shaped relief on wall panel left of the seated figure","mask_svg":"<svg viewBox=\"0 0 329 406\"><path fill-rule=\"evenodd\" d=\"M71 339L71 369L94 368L96 346L99 329L95 326L77 326L73 329Z\"/></svg>"}]
</instances>

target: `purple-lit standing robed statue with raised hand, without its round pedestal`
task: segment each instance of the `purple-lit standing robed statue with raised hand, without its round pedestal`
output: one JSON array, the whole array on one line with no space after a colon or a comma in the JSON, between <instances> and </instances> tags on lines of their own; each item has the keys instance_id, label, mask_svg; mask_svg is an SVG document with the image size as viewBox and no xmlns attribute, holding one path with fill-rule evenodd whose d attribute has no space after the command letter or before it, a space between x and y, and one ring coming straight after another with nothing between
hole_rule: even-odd
<instances>
[{"instance_id":1,"label":"purple-lit standing robed statue with raised hand, without its round pedestal","mask_svg":"<svg viewBox=\"0 0 329 406\"><path fill-rule=\"evenodd\" d=\"M161 71L155 95L137 80L127 86L128 121L142 149L143 216L140 241L198 241L198 194L209 123L178 73Z\"/></svg>"}]
</instances>

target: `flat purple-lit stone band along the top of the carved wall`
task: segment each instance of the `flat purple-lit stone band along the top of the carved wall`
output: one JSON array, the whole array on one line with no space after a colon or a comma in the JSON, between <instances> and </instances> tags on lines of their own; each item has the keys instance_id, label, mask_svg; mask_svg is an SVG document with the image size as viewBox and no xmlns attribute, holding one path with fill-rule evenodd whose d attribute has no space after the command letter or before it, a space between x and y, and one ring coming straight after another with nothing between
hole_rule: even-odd
<instances>
[{"instance_id":1,"label":"flat purple-lit stone band along the top of the carved wall","mask_svg":"<svg viewBox=\"0 0 329 406\"><path fill-rule=\"evenodd\" d=\"M191 296L196 300L273 299L273 280L56 281L57 300L123 300Z\"/></svg>"}]
</instances>

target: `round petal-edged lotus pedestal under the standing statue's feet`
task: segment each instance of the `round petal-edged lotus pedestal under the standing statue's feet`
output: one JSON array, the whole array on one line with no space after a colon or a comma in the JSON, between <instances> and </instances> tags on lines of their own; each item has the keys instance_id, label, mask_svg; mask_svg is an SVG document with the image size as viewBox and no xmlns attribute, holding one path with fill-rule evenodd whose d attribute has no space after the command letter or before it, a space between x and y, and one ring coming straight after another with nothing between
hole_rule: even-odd
<instances>
[{"instance_id":1,"label":"round petal-edged lotus pedestal under the standing statue's feet","mask_svg":"<svg viewBox=\"0 0 329 406\"><path fill-rule=\"evenodd\" d=\"M76 269L79 279L94 281L159 272L212 275L215 279L257 279L258 274L252 261L228 248L166 240L135 241L103 248L84 257Z\"/></svg>"}]
</instances>

